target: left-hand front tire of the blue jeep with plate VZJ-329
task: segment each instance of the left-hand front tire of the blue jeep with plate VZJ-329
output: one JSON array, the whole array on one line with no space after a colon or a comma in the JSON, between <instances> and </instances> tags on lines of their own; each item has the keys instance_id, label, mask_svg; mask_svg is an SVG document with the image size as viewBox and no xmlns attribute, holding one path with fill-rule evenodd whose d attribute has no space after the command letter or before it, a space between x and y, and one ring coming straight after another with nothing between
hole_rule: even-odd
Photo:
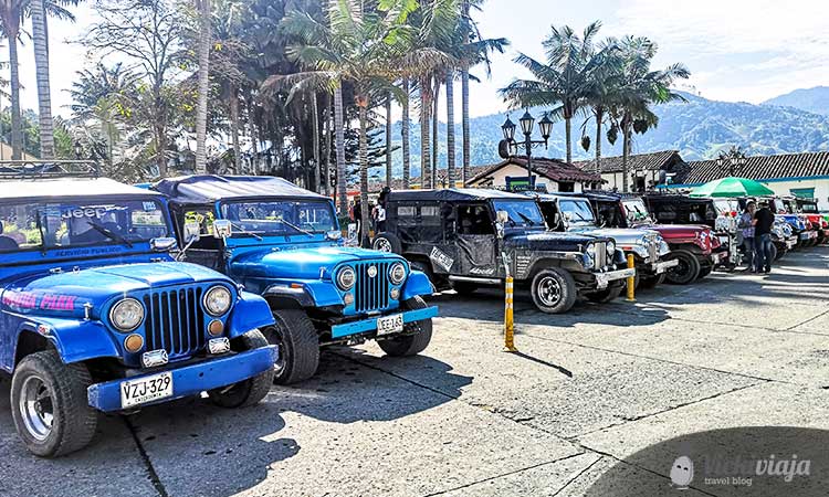
<instances>
[{"instance_id":1,"label":"left-hand front tire of the blue jeep with plate VZJ-329","mask_svg":"<svg viewBox=\"0 0 829 497\"><path fill-rule=\"evenodd\" d=\"M20 361L11 379L11 414L18 435L29 452L41 457L56 457L92 442L97 412L87 403L86 389L91 384L92 377L85 364L64 364L54 350L35 352ZM21 409L21 401L29 404L25 399L32 399L32 394L48 396L29 410ZM44 405L43 401L48 404ZM51 424L32 421L42 420L43 411L51 411Z\"/></svg>"}]
</instances>

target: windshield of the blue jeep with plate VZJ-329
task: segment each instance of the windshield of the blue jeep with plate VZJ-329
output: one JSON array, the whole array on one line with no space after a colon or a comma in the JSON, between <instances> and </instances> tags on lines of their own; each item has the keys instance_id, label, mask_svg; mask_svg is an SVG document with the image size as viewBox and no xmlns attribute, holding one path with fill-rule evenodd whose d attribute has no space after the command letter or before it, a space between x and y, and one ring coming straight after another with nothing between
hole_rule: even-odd
<instances>
[{"instance_id":1,"label":"windshield of the blue jeep with plate VZJ-329","mask_svg":"<svg viewBox=\"0 0 829 497\"><path fill-rule=\"evenodd\" d=\"M126 245L168 236L153 199L0 204L0 252Z\"/></svg>"}]
</instances>

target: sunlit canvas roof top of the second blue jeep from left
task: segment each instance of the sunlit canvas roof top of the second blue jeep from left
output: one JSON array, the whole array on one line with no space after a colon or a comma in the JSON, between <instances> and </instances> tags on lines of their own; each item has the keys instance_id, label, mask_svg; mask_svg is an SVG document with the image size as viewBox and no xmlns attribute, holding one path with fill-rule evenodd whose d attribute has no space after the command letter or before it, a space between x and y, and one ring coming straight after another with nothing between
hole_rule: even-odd
<instances>
[{"instance_id":1,"label":"sunlit canvas roof top of the second blue jeep from left","mask_svg":"<svg viewBox=\"0 0 829 497\"><path fill-rule=\"evenodd\" d=\"M273 176L182 176L164 179L153 189L178 203L206 203L218 200L261 197L327 199Z\"/></svg>"}]
</instances>

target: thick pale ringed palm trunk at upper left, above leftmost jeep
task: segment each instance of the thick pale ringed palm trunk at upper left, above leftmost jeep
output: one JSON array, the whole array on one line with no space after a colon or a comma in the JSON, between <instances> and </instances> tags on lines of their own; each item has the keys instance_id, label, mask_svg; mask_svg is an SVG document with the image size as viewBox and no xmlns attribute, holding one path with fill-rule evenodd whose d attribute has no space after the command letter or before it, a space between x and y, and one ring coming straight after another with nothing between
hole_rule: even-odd
<instances>
[{"instance_id":1,"label":"thick pale ringed palm trunk at upper left, above leftmost jeep","mask_svg":"<svg viewBox=\"0 0 829 497\"><path fill-rule=\"evenodd\" d=\"M52 120L52 94L49 85L49 40L46 13L74 20L64 6L77 6L81 0L30 0L20 2L32 18L32 44L34 45L34 70L38 81L40 155L42 159L53 159L54 123ZM15 47L17 51L17 47Z\"/></svg>"}]
</instances>

